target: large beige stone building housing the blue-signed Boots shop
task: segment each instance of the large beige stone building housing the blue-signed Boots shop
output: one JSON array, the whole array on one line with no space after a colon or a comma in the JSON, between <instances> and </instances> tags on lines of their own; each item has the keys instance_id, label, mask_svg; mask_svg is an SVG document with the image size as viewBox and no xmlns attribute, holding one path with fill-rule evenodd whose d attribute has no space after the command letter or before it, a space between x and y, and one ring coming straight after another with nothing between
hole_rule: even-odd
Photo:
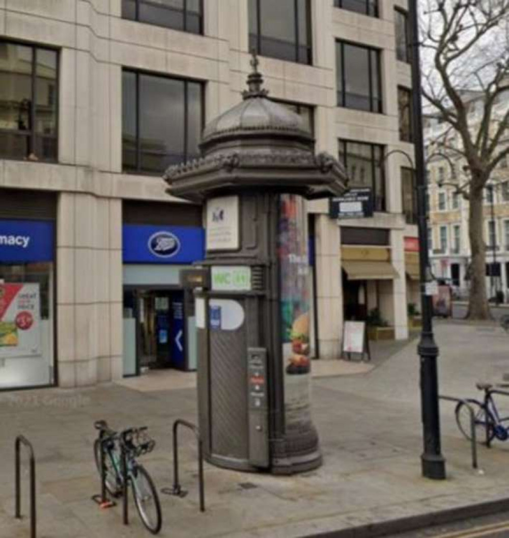
<instances>
[{"instance_id":1,"label":"large beige stone building housing the blue-signed Boots shop","mask_svg":"<svg viewBox=\"0 0 509 538\"><path fill-rule=\"evenodd\" d=\"M0 389L196 367L180 272L202 208L165 192L260 58L274 100L339 155L373 217L309 204L314 354L416 302L404 0L0 0ZM397 150L397 152L395 152ZM164 249L160 249L160 245Z\"/></svg>"}]
</instances>

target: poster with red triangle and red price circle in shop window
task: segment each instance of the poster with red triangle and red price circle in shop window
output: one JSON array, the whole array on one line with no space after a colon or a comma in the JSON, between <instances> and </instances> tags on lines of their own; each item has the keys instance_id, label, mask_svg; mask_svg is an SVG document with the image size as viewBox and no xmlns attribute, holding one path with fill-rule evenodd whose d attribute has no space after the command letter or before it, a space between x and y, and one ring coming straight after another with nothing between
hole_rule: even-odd
<instances>
[{"instance_id":1,"label":"poster with red triangle and red price circle in shop window","mask_svg":"<svg viewBox=\"0 0 509 538\"><path fill-rule=\"evenodd\" d=\"M0 359L40 355L39 284L0 284Z\"/></svg>"}]
</instances>

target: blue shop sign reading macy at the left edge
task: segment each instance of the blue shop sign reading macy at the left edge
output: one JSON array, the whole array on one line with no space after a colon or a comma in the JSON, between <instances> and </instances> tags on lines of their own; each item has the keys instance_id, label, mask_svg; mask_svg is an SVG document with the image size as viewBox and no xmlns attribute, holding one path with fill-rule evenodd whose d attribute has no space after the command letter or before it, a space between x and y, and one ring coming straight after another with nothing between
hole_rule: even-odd
<instances>
[{"instance_id":1,"label":"blue shop sign reading macy at the left edge","mask_svg":"<svg viewBox=\"0 0 509 538\"><path fill-rule=\"evenodd\" d=\"M53 222L0 219L0 263L52 261L54 250Z\"/></svg>"}]
</instances>

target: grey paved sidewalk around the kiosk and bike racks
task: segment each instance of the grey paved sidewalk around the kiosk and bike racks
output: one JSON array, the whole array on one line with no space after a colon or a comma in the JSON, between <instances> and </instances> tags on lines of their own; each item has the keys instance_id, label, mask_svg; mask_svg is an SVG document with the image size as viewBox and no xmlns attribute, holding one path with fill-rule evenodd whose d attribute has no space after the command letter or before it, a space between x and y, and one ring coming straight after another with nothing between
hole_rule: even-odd
<instances>
[{"instance_id":1,"label":"grey paved sidewalk around the kiosk and bike racks","mask_svg":"<svg viewBox=\"0 0 509 538\"><path fill-rule=\"evenodd\" d=\"M475 380L501 379L506 370L509 336L497 327L438 324L437 341L442 393L475 395ZM316 535L508 497L509 447L499 442L491 450L480 447L484 475L472 471L469 444L449 404L442 405L448 480L421 478L418 367L413 341L369 373L315 378L313 412L324 465L283 478L206 465L204 514L198 512L195 447L184 434L182 482L190 492L184 499L161 495L161 536ZM37 452L40 537L148 535L133 505L131 526L123 527L120 506L101 511L90 500L98 492L92 423L104 418L117 428L149 426L157 447L144 459L163 487L171 485L170 429L177 417L196 420L192 388L145 392L106 385L0 394L0 536L28 535L28 521L12 518L12 444L18 433Z\"/></svg>"}]
</instances>

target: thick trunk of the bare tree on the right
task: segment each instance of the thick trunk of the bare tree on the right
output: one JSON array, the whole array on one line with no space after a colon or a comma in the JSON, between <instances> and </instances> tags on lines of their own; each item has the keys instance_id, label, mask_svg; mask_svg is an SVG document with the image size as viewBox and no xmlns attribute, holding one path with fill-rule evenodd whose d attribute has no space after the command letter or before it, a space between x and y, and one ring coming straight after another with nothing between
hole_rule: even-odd
<instances>
[{"instance_id":1,"label":"thick trunk of the bare tree on the right","mask_svg":"<svg viewBox=\"0 0 509 538\"><path fill-rule=\"evenodd\" d=\"M483 189L470 189L468 215L470 239L470 298L467 318L469 320L491 319L486 297L486 246L484 243Z\"/></svg>"}]
</instances>

